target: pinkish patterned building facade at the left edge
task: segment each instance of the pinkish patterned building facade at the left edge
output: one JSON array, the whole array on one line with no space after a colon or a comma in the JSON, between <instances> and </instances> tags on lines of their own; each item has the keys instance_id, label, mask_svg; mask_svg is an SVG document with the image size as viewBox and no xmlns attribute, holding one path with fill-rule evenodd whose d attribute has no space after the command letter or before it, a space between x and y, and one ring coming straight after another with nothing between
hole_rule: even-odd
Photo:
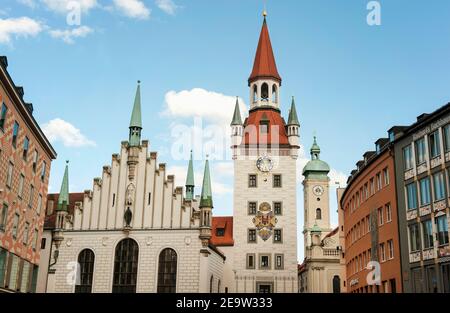
<instances>
[{"instance_id":1,"label":"pinkish patterned building facade at the left edge","mask_svg":"<svg viewBox=\"0 0 450 313\"><path fill-rule=\"evenodd\" d=\"M34 292L56 152L0 57L0 292Z\"/></svg>"}]
</instances>

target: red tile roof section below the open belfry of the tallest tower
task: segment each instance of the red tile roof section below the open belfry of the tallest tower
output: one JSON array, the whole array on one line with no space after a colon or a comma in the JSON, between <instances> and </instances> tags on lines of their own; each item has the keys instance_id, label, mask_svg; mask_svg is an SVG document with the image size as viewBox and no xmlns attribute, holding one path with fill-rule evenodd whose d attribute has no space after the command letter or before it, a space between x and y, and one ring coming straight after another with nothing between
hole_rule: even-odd
<instances>
[{"instance_id":1,"label":"red tile roof section below the open belfry of the tallest tower","mask_svg":"<svg viewBox=\"0 0 450 313\"><path fill-rule=\"evenodd\" d=\"M261 134L261 120L269 122L269 132ZM251 127L251 126L254 127ZM278 128L274 127L278 126ZM250 111L245 121L244 142L246 145L288 145L289 139L286 133L286 123L281 117L280 111L276 109L257 109Z\"/></svg>"}]
</instances>

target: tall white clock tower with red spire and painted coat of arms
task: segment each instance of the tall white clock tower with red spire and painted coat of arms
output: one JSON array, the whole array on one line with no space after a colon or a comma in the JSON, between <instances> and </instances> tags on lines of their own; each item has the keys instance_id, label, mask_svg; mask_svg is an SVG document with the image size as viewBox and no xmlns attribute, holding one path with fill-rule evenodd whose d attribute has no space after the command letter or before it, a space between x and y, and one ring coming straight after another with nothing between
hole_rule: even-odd
<instances>
[{"instance_id":1,"label":"tall white clock tower with red spire and painted coat of arms","mask_svg":"<svg viewBox=\"0 0 450 313\"><path fill-rule=\"evenodd\" d=\"M300 123L294 99L287 123L281 115L281 83L264 14L248 79L249 116L242 122L236 102L231 123L234 292L298 290L296 173Z\"/></svg>"}]
</instances>

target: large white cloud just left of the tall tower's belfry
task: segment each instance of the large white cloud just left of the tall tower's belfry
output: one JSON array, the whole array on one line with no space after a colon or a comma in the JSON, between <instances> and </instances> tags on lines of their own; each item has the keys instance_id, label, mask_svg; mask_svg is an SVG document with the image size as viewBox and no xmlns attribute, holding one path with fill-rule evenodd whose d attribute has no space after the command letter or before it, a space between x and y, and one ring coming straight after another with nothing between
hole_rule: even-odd
<instances>
[{"instance_id":1,"label":"large white cloud just left of the tall tower's belfry","mask_svg":"<svg viewBox=\"0 0 450 313\"><path fill-rule=\"evenodd\" d=\"M169 91L165 96L166 111L171 117L202 117L212 122L229 126L233 118L236 97L227 96L202 88ZM242 99L239 99L242 118L247 108Z\"/></svg>"}]
</instances>

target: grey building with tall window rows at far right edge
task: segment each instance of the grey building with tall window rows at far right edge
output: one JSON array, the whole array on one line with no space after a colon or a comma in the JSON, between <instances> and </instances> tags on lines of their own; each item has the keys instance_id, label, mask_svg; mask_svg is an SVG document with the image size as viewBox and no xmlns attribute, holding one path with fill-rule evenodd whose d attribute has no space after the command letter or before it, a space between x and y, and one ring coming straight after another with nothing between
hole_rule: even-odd
<instances>
[{"instance_id":1,"label":"grey building with tall window rows at far right edge","mask_svg":"<svg viewBox=\"0 0 450 313\"><path fill-rule=\"evenodd\" d=\"M450 292L450 104L394 127L395 167L406 292Z\"/></svg>"}]
</instances>

